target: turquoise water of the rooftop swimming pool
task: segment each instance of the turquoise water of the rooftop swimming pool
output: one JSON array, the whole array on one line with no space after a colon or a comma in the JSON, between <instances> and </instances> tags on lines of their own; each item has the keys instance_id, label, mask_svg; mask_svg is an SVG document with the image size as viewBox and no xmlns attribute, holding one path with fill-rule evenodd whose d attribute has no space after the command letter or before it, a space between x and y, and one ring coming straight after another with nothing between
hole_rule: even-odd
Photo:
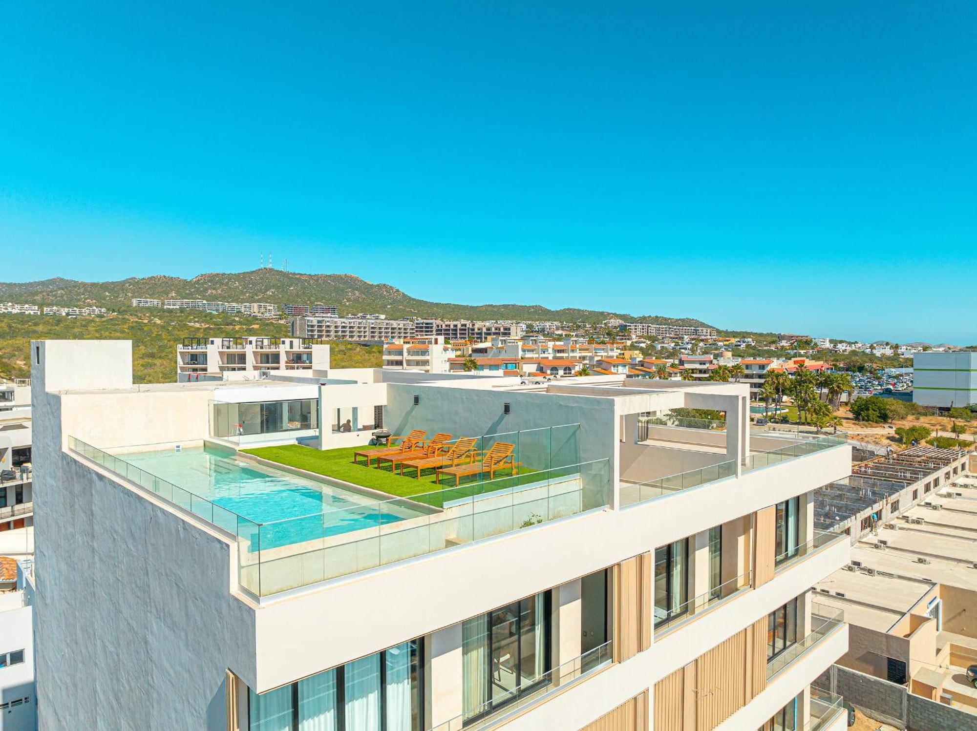
<instances>
[{"instance_id":1,"label":"turquoise water of the rooftop swimming pool","mask_svg":"<svg viewBox=\"0 0 977 731\"><path fill-rule=\"evenodd\" d=\"M392 514L384 505L380 511L371 497L255 465L229 452L197 447L116 456L249 521L263 524L261 548L337 536L412 517L405 508ZM198 511L194 508L194 512ZM243 535L246 529L238 532ZM252 550L257 549L257 545L252 546Z\"/></svg>"}]
</instances>

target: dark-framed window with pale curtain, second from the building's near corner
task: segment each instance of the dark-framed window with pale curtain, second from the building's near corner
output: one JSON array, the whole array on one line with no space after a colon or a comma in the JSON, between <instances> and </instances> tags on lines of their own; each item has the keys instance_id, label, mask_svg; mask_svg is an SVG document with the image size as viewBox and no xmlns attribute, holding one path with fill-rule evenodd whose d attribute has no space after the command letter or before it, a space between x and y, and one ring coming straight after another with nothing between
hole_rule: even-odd
<instances>
[{"instance_id":1,"label":"dark-framed window with pale curtain, second from the building's near corner","mask_svg":"<svg viewBox=\"0 0 977 731\"><path fill-rule=\"evenodd\" d=\"M549 603L545 591L462 624L465 722L549 682Z\"/></svg>"}]
</instances>

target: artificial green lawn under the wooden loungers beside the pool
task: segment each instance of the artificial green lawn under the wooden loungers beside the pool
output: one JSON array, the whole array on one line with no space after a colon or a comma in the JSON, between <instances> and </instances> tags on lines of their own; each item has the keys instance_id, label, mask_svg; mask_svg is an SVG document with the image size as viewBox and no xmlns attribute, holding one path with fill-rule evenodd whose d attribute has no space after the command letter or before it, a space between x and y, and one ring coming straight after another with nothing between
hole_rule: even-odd
<instances>
[{"instance_id":1,"label":"artificial green lawn under the wooden loungers beside the pool","mask_svg":"<svg viewBox=\"0 0 977 731\"><path fill-rule=\"evenodd\" d=\"M519 475L516 477L501 477L496 473L496 478L490 483L484 483L479 475L472 475L468 478L462 478L463 482L458 487L455 487L454 480L448 477L445 477L443 484L438 486L435 484L434 470L422 473L421 478L415 480L413 477L402 477L400 474L391 473L387 463L384 464L383 469L378 469L372 466L376 464L374 460L370 462L371 466L367 467L360 457L358 463L354 464L353 452L368 449L371 448L343 447L338 450L316 450L303 445L283 445L281 447L258 447L253 450L241 450L241 452L290 467L315 472L325 477L334 477L337 480L377 490L387 495L414 497L420 502L436 507L441 507L446 500L480 495L487 490L494 492L535 482L539 479L538 475L532 476L535 470L520 468ZM424 495L428 493L434 493L434 495Z\"/></svg>"}]
</instances>

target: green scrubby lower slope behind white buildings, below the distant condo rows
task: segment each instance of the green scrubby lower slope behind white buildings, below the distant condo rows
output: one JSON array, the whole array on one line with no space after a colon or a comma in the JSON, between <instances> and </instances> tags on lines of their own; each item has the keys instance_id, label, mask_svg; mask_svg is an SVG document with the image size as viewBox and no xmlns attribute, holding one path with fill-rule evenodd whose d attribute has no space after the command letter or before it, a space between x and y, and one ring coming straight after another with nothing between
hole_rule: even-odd
<instances>
[{"instance_id":1,"label":"green scrubby lower slope behind white buildings, below the distant condo rows","mask_svg":"<svg viewBox=\"0 0 977 731\"><path fill-rule=\"evenodd\" d=\"M142 310L105 318L0 315L0 380L30 376L30 341L41 338L124 339L133 341L137 383L176 380L176 346L185 337L288 334L284 323L187 310ZM378 345L331 343L332 366L380 367Z\"/></svg>"}]
</instances>

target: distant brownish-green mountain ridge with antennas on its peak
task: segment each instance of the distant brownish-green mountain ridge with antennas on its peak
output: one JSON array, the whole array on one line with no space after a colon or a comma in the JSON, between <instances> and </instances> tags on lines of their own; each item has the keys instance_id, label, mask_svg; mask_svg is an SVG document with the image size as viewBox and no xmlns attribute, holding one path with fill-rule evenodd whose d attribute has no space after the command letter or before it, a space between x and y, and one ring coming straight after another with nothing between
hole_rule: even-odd
<instances>
[{"instance_id":1,"label":"distant brownish-green mountain ridge with antennas on its peak","mask_svg":"<svg viewBox=\"0 0 977 731\"><path fill-rule=\"evenodd\" d=\"M202 274L191 280L179 277L131 278L121 281L75 281L61 278L0 283L0 302L45 305L97 305L116 312L132 311L133 297L153 299L205 299L224 302L272 302L335 305L340 315L379 313L390 318L440 317L471 320L555 320L600 323L608 318L643 323L707 326L691 318L665 318L599 310L549 310L539 305L457 305L415 299L389 284L373 284L353 275L308 275L276 269L239 274ZM145 311L144 311L145 312Z\"/></svg>"}]
</instances>

